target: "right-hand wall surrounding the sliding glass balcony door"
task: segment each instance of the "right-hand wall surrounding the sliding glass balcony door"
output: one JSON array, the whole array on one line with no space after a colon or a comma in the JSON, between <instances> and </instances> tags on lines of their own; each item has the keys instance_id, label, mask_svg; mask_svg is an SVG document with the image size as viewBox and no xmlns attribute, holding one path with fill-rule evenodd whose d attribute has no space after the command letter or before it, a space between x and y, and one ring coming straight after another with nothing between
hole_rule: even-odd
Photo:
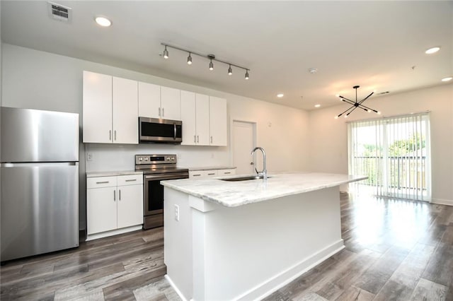
<instances>
[{"instance_id":1,"label":"right-hand wall surrounding the sliding glass balcony door","mask_svg":"<svg viewBox=\"0 0 453 301\"><path fill-rule=\"evenodd\" d=\"M381 111L383 116L431 111L432 199L453 204L453 84L369 98L367 106ZM338 105L310 112L310 170L348 172L346 121L377 115L356 110L348 120L333 119L346 108L346 105Z\"/></svg>"}]
</instances>

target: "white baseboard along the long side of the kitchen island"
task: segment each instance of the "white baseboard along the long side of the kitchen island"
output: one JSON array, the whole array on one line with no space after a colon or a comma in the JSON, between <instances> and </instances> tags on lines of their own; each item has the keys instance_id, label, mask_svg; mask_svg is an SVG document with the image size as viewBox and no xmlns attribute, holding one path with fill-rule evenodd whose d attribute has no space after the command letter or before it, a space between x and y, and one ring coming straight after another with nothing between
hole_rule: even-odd
<instances>
[{"instance_id":1,"label":"white baseboard along the long side of the kitchen island","mask_svg":"<svg viewBox=\"0 0 453 301\"><path fill-rule=\"evenodd\" d=\"M256 287L251 288L251 290L248 290L246 293L235 297L234 300L262 300L264 297L274 293L279 288L287 285L303 273L306 273L306 271L321 264L321 262L325 261L333 254L340 252L344 248L345 245L343 244L343 240L338 240L338 242L334 242L330 246L321 249L321 251L316 254L294 264L294 266L287 268L285 271L278 273L267 281L256 285Z\"/></svg>"}]
</instances>

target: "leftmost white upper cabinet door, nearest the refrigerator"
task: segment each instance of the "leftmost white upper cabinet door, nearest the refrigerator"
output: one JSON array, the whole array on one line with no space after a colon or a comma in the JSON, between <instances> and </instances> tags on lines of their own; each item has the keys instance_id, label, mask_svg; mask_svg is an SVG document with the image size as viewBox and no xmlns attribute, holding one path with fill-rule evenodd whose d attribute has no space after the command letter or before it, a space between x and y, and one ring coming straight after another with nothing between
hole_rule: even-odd
<instances>
[{"instance_id":1,"label":"leftmost white upper cabinet door, nearest the refrigerator","mask_svg":"<svg viewBox=\"0 0 453 301\"><path fill-rule=\"evenodd\" d=\"M83 141L112 143L112 76L84 71Z\"/></svg>"}]
</instances>

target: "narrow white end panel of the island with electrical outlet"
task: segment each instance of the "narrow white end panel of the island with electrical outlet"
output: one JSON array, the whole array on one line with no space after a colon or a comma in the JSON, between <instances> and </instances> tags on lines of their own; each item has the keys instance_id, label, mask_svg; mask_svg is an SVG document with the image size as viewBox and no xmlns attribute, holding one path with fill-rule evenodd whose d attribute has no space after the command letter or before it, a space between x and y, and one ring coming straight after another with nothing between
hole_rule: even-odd
<instances>
[{"instance_id":1,"label":"narrow white end panel of the island with electrical outlet","mask_svg":"<svg viewBox=\"0 0 453 301\"><path fill-rule=\"evenodd\" d=\"M190 300L193 295L193 241L189 196L165 187L164 200L164 263L167 276L179 293ZM175 205L179 206L179 220L175 219Z\"/></svg>"}]
</instances>

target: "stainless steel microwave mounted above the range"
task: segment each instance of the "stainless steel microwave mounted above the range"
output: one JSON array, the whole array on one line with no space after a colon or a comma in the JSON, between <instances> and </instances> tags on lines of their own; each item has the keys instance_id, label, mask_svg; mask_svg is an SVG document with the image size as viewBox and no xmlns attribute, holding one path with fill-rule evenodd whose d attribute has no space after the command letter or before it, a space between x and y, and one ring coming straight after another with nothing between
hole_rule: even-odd
<instances>
[{"instance_id":1,"label":"stainless steel microwave mounted above the range","mask_svg":"<svg viewBox=\"0 0 453 301\"><path fill-rule=\"evenodd\" d=\"M139 142L181 143L183 142L183 122L139 117Z\"/></svg>"}]
</instances>

